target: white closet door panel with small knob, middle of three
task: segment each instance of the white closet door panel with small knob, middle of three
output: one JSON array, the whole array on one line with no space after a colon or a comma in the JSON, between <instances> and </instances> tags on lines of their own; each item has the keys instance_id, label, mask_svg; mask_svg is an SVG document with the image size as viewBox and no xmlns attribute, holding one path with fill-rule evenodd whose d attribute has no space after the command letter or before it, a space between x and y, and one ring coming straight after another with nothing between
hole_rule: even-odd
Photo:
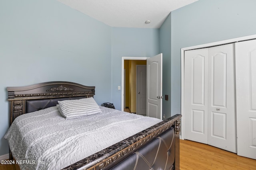
<instances>
[{"instance_id":1,"label":"white closet door panel with small knob, middle of three","mask_svg":"<svg viewBox=\"0 0 256 170\"><path fill-rule=\"evenodd\" d=\"M208 144L236 153L234 44L208 51Z\"/></svg>"}]
</instances>

